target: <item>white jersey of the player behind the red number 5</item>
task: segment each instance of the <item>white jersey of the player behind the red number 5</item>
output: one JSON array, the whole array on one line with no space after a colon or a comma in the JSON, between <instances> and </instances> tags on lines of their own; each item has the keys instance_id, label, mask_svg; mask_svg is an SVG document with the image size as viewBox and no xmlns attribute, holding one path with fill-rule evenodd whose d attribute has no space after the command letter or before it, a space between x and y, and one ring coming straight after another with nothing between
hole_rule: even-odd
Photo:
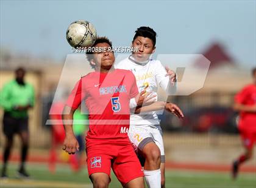
<instances>
[{"instance_id":1,"label":"white jersey of the player behind the red number 5","mask_svg":"<svg viewBox=\"0 0 256 188\"><path fill-rule=\"evenodd\" d=\"M152 92L151 95L157 95L157 87L164 89L167 95L176 92L176 85L172 86L169 83L169 76L166 75L165 67L160 61L149 59L148 62L140 64L133 60L132 56L115 64L116 69L131 70L135 75L137 87L141 92L146 86L147 92ZM157 100L157 97L156 97ZM130 125L158 125L160 121L157 113L147 112L144 114L134 114L130 116Z\"/></svg>"}]
</instances>

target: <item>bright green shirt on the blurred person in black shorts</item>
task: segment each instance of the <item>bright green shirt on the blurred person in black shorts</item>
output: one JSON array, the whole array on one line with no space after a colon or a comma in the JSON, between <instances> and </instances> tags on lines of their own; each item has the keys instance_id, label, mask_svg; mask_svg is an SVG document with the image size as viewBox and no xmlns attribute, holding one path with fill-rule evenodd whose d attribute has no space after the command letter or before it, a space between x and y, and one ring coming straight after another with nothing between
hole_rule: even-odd
<instances>
[{"instance_id":1,"label":"bright green shirt on the blurred person in black shorts","mask_svg":"<svg viewBox=\"0 0 256 188\"><path fill-rule=\"evenodd\" d=\"M27 110L15 110L15 106L34 106L35 92L30 84L20 85L16 80L12 80L4 85L0 91L0 106L5 112L9 112L15 118L27 116Z\"/></svg>"}]
</instances>

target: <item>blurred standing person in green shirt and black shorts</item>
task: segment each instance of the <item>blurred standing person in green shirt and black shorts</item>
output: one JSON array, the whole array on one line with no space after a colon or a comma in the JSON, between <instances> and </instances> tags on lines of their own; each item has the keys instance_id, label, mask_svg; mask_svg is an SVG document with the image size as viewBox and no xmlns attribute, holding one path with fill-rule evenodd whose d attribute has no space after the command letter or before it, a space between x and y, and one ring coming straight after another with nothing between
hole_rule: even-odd
<instances>
[{"instance_id":1,"label":"blurred standing person in green shirt and black shorts","mask_svg":"<svg viewBox=\"0 0 256 188\"><path fill-rule=\"evenodd\" d=\"M15 71L15 79L5 84L0 92L0 105L4 109L3 132L5 147L1 177L7 178L7 163L13 146L13 136L21 139L21 163L18 176L28 178L25 162L29 148L28 110L34 106L34 87L24 81L26 72L20 67Z\"/></svg>"}]
</instances>

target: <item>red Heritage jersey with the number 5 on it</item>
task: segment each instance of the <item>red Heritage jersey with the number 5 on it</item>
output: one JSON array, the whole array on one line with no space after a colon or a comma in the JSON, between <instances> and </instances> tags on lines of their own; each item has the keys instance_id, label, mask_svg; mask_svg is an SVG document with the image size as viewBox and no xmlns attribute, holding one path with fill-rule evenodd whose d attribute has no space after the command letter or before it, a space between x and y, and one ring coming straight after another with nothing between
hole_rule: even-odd
<instances>
[{"instance_id":1,"label":"red Heritage jersey with the number 5 on it","mask_svg":"<svg viewBox=\"0 0 256 188\"><path fill-rule=\"evenodd\" d=\"M129 70L92 72L77 82L66 105L75 110L81 101L85 101L89 113L87 139L118 141L120 138L122 142L127 143L129 103L136 95L136 79Z\"/></svg>"}]
</instances>

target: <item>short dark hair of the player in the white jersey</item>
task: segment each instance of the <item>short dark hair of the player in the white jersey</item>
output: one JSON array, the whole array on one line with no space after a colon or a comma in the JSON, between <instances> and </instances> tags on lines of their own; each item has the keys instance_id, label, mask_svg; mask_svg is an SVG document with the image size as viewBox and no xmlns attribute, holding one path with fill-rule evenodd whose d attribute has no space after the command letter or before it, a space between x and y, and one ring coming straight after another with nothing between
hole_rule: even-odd
<instances>
[{"instance_id":1,"label":"short dark hair of the player in the white jersey","mask_svg":"<svg viewBox=\"0 0 256 188\"><path fill-rule=\"evenodd\" d=\"M139 27L136 31L135 31L135 35L133 36L133 41L135 41L135 39L138 36L143 36L145 38L149 38L152 40L153 42L153 46L155 47L155 42L157 41L157 33L155 33L155 31L150 28L150 27L145 27L145 26L141 26Z\"/></svg>"}]
</instances>

